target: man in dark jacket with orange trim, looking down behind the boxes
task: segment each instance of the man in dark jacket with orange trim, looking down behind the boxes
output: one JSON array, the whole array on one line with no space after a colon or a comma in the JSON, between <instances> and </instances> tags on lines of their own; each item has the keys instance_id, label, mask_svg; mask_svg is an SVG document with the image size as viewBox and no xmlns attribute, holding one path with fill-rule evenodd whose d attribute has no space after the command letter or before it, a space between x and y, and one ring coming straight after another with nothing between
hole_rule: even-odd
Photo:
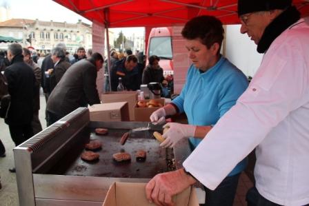
<instances>
[{"instance_id":1,"label":"man in dark jacket with orange trim, looking down behind the boxes","mask_svg":"<svg viewBox=\"0 0 309 206\"><path fill-rule=\"evenodd\" d=\"M126 59L117 61L111 72L112 91L117 91L118 78L121 77L122 84L126 90L139 90L141 85L137 57L129 55Z\"/></svg>"}]
</instances>

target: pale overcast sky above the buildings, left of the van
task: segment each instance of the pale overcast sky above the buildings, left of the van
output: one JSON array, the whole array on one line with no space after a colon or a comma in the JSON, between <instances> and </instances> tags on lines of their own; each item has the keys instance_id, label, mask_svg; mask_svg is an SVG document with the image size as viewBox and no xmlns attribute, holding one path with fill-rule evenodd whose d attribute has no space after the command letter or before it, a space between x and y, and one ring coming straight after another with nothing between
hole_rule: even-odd
<instances>
[{"instance_id":1,"label":"pale overcast sky above the buildings, left of the van","mask_svg":"<svg viewBox=\"0 0 309 206\"><path fill-rule=\"evenodd\" d=\"M41 21L66 21L68 23L77 23L79 19L84 23L91 24L91 21L81 17L79 14L68 10L52 0L0 0L0 6L9 5L11 15L14 19L39 19ZM126 36L135 33L137 36L143 36L143 28L119 28L112 29L115 34L120 30Z\"/></svg>"}]
</instances>

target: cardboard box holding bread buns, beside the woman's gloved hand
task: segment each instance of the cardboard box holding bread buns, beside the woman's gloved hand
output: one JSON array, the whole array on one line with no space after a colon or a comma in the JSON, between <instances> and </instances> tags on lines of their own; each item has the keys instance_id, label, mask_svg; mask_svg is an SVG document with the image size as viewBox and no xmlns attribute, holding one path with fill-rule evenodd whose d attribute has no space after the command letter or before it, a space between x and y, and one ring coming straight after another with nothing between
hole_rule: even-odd
<instances>
[{"instance_id":1,"label":"cardboard box holding bread buns, beside the woman's gloved hand","mask_svg":"<svg viewBox=\"0 0 309 206\"><path fill-rule=\"evenodd\" d=\"M146 99L146 102L150 101L150 99ZM155 101L161 103L161 105L165 105L165 99L155 99ZM160 107L137 107L137 102L134 107L134 117L135 121L150 121L150 115L155 110L158 110Z\"/></svg>"}]
</instances>

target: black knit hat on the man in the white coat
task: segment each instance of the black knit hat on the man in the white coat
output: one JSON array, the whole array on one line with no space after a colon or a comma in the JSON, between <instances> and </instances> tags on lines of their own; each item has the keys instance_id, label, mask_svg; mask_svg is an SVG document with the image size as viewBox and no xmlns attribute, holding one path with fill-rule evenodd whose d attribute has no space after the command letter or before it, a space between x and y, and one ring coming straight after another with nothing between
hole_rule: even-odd
<instances>
[{"instance_id":1,"label":"black knit hat on the man in the white coat","mask_svg":"<svg viewBox=\"0 0 309 206\"><path fill-rule=\"evenodd\" d=\"M238 16L251 12L286 9L292 0L238 0Z\"/></svg>"}]
</instances>

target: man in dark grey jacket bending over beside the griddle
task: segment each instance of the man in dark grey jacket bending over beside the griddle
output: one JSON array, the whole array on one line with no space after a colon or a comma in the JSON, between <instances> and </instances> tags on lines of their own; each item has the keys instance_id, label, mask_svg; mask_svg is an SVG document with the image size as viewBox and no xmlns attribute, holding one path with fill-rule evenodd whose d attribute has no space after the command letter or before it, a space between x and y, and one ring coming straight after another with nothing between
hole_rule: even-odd
<instances>
[{"instance_id":1,"label":"man in dark grey jacket bending over beside the griddle","mask_svg":"<svg viewBox=\"0 0 309 206\"><path fill-rule=\"evenodd\" d=\"M102 65L103 57L99 53L71 65L48 98L50 125L78 107L100 103L96 80Z\"/></svg>"}]
</instances>

